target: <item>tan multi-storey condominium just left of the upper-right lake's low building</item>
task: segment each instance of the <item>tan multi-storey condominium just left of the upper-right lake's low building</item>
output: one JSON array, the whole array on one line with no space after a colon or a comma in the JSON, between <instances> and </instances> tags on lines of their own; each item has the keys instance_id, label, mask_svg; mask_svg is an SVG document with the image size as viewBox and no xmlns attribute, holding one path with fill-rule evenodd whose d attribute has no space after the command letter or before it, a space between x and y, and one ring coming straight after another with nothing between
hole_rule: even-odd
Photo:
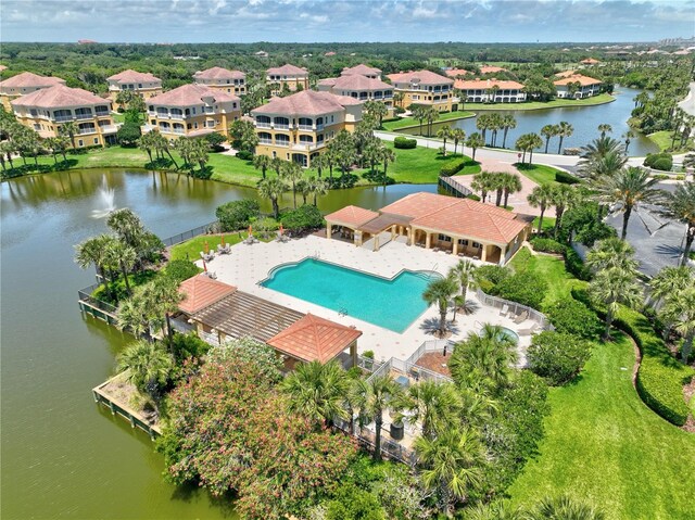
<instances>
[{"instance_id":1,"label":"tan multi-storey condominium just left of the upper-right lake's low building","mask_svg":"<svg viewBox=\"0 0 695 520\"><path fill-rule=\"evenodd\" d=\"M451 112L454 80L430 71L389 74L394 92L403 94L401 106L412 104L433 106L440 112Z\"/></svg>"}]
</instances>

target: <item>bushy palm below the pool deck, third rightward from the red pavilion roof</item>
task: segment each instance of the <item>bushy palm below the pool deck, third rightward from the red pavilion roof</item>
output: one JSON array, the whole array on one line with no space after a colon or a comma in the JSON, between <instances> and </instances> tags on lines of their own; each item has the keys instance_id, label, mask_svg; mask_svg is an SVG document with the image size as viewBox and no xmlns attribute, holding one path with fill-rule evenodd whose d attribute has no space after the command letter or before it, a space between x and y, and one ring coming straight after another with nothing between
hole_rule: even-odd
<instances>
[{"instance_id":1,"label":"bushy palm below the pool deck, third rightward from the red pavilion roof","mask_svg":"<svg viewBox=\"0 0 695 520\"><path fill-rule=\"evenodd\" d=\"M460 397L452 383L422 380L408 388L397 408L420 422L422 436L432 440L460 422ZM405 416L399 413L397 417Z\"/></svg>"}]
</instances>

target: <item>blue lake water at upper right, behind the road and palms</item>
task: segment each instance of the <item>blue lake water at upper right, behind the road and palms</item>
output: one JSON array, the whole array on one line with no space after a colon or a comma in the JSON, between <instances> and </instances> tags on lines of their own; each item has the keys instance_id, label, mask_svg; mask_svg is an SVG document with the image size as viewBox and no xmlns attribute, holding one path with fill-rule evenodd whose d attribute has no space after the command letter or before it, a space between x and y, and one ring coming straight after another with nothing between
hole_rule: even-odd
<instances>
[{"instance_id":1,"label":"blue lake water at upper right, behind the road and palms","mask_svg":"<svg viewBox=\"0 0 695 520\"><path fill-rule=\"evenodd\" d=\"M541 128L545 125L557 125L561 121L566 121L574 127L574 132L571 137L565 138L563 141L563 148L579 148L589 143L592 139L595 139L599 136L598 125L602 123L607 123L612 127L612 132L610 136L614 139L622 140L623 135L628 131L628 119L630 118L630 114L632 109L634 109L634 97L637 96L641 90L631 89L626 87L616 87L616 91L614 96L616 97L616 101L611 103L606 103L602 105L595 106L577 106L577 107L567 107L567 109L544 109L544 110L532 110L532 111L494 111L498 114L511 114L517 119L517 127L510 129L507 134L507 142L506 148L513 148L517 138L522 134L541 132ZM491 111L478 111L477 113L490 113ZM479 131L476 128L476 118L471 117L468 119L459 119L455 122L447 123L455 128L463 128L466 130L466 135L470 135L475 131ZM441 128L442 124L434 125L434 128ZM419 128L410 128L408 130L403 130L407 134L418 134ZM435 130L434 130L435 131ZM502 138L503 132L500 131L497 135L497 145L502 147ZM488 132L490 136L490 132ZM488 137L488 142L490 142L490 137ZM554 137L551 139L551 144L548 147L549 153L557 152L557 145L559 142L559 138ZM545 150L545 138L543 138L543 147L540 148L540 151L543 152ZM630 141L630 147L628 148L628 154L632 156L643 156L647 153L658 152L658 147L654 144L646 137L639 135ZM541 161L539 158L539 161Z\"/></svg>"}]
</instances>

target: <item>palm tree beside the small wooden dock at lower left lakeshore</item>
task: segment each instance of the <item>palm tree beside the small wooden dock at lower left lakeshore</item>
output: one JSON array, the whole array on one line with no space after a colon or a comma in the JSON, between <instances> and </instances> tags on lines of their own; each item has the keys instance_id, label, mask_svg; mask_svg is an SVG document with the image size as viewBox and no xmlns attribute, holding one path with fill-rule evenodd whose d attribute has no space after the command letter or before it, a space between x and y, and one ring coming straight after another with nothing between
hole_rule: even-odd
<instances>
[{"instance_id":1,"label":"palm tree beside the small wooden dock at lower left lakeshore","mask_svg":"<svg viewBox=\"0 0 695 520\"><path fill-rule=\"evenodd\" d=\"M159 343L139 340L121 353L118 369L128 370L127 380L159 407L162 389L174 369L174 359Z\"/></svg>"}]
</instances>

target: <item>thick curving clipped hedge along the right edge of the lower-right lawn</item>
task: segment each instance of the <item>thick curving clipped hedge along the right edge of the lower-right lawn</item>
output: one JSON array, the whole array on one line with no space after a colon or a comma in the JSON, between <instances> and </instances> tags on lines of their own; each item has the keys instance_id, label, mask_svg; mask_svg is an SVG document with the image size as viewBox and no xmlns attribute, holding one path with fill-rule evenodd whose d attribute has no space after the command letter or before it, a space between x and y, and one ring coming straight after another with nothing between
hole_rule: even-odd
<instances>
[{"instance_id":1,"label":"thick curving clipped hedge along the right edge of the lower-right lawn","mask_svg":"<svg viewBox=\"0 0 695 520\"><path fill-rule=\"evenodd\" d=\"M683 385L695 376L695 370L673 358L642 314L621 308L615 325L630 334L642 352L636 381L642 401L667 421L683 426L688 414Z\"/></svg>"}]
</instances>

